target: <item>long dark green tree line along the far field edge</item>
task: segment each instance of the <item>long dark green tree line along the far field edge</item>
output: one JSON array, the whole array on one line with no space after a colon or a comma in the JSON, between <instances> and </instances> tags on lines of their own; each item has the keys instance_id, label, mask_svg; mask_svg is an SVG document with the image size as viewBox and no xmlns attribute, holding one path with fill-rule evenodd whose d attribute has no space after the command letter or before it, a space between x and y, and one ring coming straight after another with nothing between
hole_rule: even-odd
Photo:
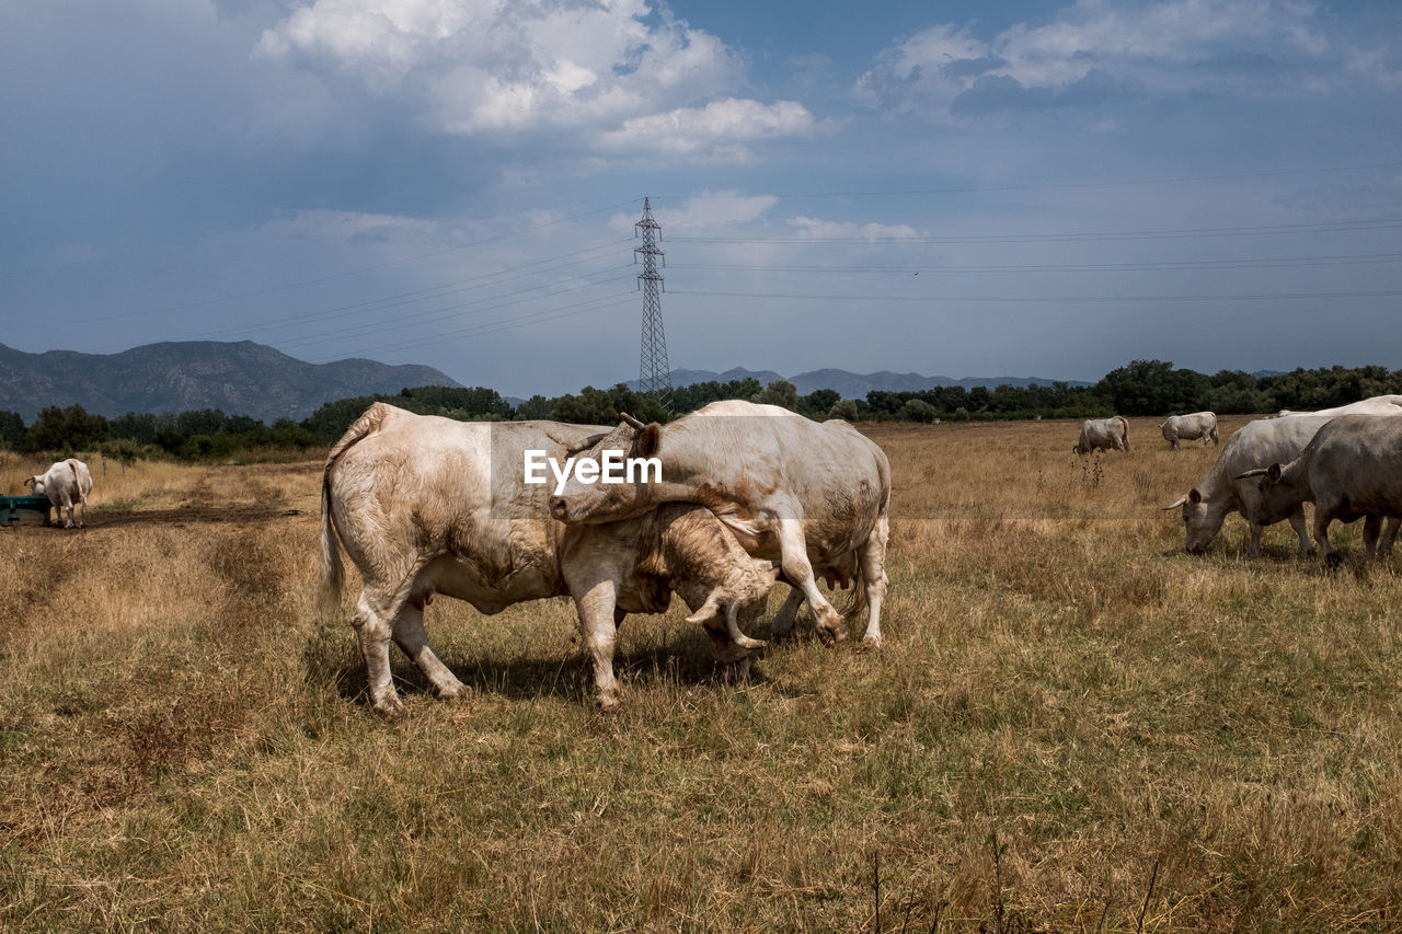
<instances>
[{"instance_id":1,"label":"long dark green tree line along the far field edge","mask_svg":"<svg viewBox=\"0 0 1402 934\"><path fill-rule=\"evenodd\" d=\"M1360 398L1402 394L1402 370L1382 366L1297 369L1255 376L1220 370L1211 376L1178 369L1164 360L1134 360L1106 373L1094 386L962 386L920 391L873 390L865 398L841 398L833 390L801 395L792 383L760 386L754 379L708 381L673 390L672 411L701 408L725 398L744 398L781 405L813 419L861 421L970 421L1021 418L1099 418L1106 415L1176 415L1211 410L1220 415L1274 412L1281 408L1316 410ZM27 425L17 412L0 411L0 446L25 453L101 452L129 461L136 457L181 460L230 459L247 452L307 452L332 445L372 402L384 401L421 415L460 421L551 419L583 425L613 425L620 412L645 421L669 421L656 398L620 383L601 390L586 386L579 393L554 398L533 395L512 405L485 387L421 386L394 395L358 395L327 402L299 421L280 418L272 425L219 410L174 414L128 412L116 418L90 414L81 405L50 405Z\"/></svg>"}]
</instances>

